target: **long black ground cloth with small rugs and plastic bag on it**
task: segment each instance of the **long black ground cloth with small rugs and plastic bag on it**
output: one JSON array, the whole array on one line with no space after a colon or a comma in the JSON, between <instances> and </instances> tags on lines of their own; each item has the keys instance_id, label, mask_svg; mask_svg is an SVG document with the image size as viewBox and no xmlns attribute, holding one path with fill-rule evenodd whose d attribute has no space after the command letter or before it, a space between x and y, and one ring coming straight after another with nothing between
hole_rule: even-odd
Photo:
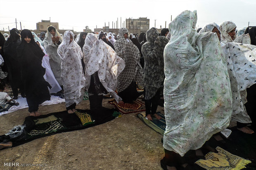
<instances>
[{"instance_id":1,"label":"long black ground cloth with small rugs and plastic bag on it","mask_svg":"<svg viewBox=\"0 0 256 170\"><path fill-rule=\"evenodd\" d=\"M119 117L120 114L114 108L104 107L94 110L77 110L74 114L69 114L65 110L38 117L26 117L23 125L15 126L8 133L0 136L0 143L2 142L0 149L1 145L3 146L2 149L5 149L8 142L12 142L10 147L15 147L55 133L85 129L103 124Z\"/></svg>"}]
</instances>

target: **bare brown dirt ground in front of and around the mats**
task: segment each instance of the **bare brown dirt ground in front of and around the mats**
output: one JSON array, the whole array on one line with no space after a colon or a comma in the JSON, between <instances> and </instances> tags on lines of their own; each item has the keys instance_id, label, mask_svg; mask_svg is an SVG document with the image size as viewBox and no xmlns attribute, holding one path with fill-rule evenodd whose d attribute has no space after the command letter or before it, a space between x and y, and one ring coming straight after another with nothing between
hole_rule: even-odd
<instances>
[{"instance_id":1,"label":"bare brown dirt ground in front of and around the mats","mask_svg":"<svg viewBox=\"0 0 256 170\"><path fill-rule=\"evenodd\" d=\"M109 99L103 106L114 108ZM89 109L83 101L78 109ZM65 104L39 106L41 114L65 110ZM161 106L158 111L164 113ZM0 170L162 170L162 136L131 113L105 124L57 133L17 147L0 150ZM28 108L0 116L0 135L23 124ZM4 166L19 163L19 166ZM21 163L31 164L21 167ZM17 165L17 164L16 164Z\"/></svg>"}]
</instances>

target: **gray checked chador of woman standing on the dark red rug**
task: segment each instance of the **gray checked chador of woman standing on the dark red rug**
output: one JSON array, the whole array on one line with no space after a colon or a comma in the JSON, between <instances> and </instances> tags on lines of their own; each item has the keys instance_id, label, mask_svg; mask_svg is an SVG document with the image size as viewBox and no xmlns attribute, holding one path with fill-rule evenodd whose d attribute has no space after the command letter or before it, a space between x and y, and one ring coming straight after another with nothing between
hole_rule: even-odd
<instances>
[{"instance_id":1,"label":"gray checked chador of woman standing on the dark red rug","mask_svg":"<svg viewBox=\"0 0 256 170\"><path fill-rule=\"evenodd\" d=\"M126 64L121 74L118 76L118 92L125 90L133 81L143 85L143 71L140 65L140 51L132 41L125 39L123 34L128 33L126 28L119 30L119 39L116 40L114 47L116 54L121 57Z\"/></svg>"}]
</instances>

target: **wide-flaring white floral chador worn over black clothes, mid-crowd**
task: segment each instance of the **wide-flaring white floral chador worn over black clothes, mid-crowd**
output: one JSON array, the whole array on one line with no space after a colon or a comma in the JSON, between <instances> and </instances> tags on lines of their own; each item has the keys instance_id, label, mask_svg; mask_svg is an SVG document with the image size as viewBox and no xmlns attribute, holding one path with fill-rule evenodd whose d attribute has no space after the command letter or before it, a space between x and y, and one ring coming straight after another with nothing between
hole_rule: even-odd
<instances>
[{"instance_id":1,"label":"wide-flaring white floral chador worn over black clothes, mid-crowd","mask_svg":"<svg viewBox=\"0 0 256 170\"><path fill-rule=\"evenodd\" d=\"M100 83L114 96L117 102L122 99L114 92L117 87L117 77L125 68L125 63L116 52L97 35L88 34L83 46L83 60L85 63L85 87L90 87L91 75L96 71Z\"/></svg>"}]
</instances>

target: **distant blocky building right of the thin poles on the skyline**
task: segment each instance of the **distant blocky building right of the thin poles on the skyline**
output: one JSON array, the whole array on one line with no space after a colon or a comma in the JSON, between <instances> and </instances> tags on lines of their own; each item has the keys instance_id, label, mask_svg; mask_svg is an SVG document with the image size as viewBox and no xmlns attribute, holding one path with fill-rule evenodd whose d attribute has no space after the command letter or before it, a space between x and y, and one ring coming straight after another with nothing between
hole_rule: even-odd
<instances>
[{"instance_id":1,"label":"distant blocky building right of the thin poles on the skyline","mask_svg":"<svg viewBox=\"0 0 256 170\"><path fill-rule=\"evenodd\" d=\"M147 32L149 30L149 19L146 18L126 18L126 28L130 33L140 34L141 32Z\"/></svg>"}]
</instances>

